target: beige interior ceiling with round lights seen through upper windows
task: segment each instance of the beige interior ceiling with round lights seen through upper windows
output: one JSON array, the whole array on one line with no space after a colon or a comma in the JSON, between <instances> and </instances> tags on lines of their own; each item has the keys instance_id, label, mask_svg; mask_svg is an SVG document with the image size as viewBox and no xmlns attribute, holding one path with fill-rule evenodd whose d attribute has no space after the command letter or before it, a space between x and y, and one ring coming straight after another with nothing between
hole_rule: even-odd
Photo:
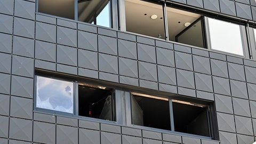
<instances>
[{"instance_id":1,"label":"beige interior ceiling with round lights seen through upper windows","mask_svg":"<svg viewBox=\"0 0 256 144\"><path fill-rule=\"evenodd\" d=\"M186 22L193 23L201 15L190 13L171 7L166 8L167 23L169 29L169 39L175 41L175 36L186 27ZM147 14L147 15L145 15ZM157 19L151 19L151 15L156 14ZM143 35L164 38L164 19L162 5L145 1L125 0L126 31ZM162 19L161 19L162 18Z\"/></svg>"}]
</instances>

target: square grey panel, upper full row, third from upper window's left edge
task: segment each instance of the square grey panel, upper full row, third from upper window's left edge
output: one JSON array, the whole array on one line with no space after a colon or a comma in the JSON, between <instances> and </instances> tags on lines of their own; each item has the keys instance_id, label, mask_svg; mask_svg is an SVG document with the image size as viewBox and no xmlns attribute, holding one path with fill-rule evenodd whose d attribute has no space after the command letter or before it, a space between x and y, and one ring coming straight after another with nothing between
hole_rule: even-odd
<instances>
[{"instance_id":1,"label":"square grey panel, upper full row, third from upper window's left edge","mask_svg":"<svg viewBox=\"0 0 256 144\"><path fill-rule=\"evenodd\" d=\"M85 50L98 51L97 34L78 30L78 47Z\"/></svg>"}]
</instances>

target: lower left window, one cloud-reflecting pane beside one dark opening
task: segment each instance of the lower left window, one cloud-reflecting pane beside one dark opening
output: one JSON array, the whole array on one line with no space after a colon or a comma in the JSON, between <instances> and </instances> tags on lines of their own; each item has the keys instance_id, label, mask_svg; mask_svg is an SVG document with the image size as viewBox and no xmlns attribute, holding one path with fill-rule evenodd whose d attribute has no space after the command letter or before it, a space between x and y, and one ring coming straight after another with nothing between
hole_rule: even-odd
<instances>
[{"instance_id":1,"label":"lower left window, one cloud-reflecting pane beside one dark opening","mask_svg":"<svg viewBox=\"0 0 256 144\"><path fill-rule=\"evenodd\" d=\"M54 113L107 121L116 119L114 90L104 86L36 76L35 95L35 107L38 110L53 110Z\"/></svg>"}]
</instances>

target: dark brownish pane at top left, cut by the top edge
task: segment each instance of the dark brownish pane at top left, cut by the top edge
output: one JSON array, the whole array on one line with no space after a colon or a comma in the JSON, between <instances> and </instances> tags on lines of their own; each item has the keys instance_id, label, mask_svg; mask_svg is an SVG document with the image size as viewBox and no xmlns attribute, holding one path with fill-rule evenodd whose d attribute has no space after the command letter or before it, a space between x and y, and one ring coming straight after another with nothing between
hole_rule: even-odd
<instances>
[{"instance_id":1,"label":"dark brownish pane at top left, cut by the top edge","mask_svg":"<svg viewBox=\"0 0 256 144\"><path fill-rule=\"evenodd\" d=\"M75 18L74 0L38 0L38 12L56 15L63 18Z\"/></svg>"}]
</instances>

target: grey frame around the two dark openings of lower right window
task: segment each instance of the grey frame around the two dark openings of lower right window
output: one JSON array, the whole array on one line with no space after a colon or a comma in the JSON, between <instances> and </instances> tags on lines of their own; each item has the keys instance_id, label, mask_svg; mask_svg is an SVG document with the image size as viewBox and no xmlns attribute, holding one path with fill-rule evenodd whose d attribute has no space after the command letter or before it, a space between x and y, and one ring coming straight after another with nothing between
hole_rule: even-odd
<instances>
[{"instance_id":1,"label":"grey frame around the two dark openings of lower right window","mask_svg":"<svg viewBox=\"0 0 256 144\"><path fill-rule=\"evenodd\" d=\"M164 130L164 129L158 129L155 127L148 127L148 126L143 126L143 125L136 125L132 124L132 103L131 99L132 93L137 93L134 91L130 92L129 96L129 105L127 106L129 109L130 113L130 125L138 128L138 129L144 129L144 130L154 130L154 131L159 131L159 132L168 132L168 133L173 133L173 134L180 134L180 135L186 135L188 137L195 137L195 138L203 138L203 139L211 139L211 140L218 140L219 139L219 133L218 133L218 126L217 126L217 115L216 115L216 110L214 106L214 101L209 101L209 100L196 100L196 99L191 99L191 98L186 98L181 95L172 95L172 96L165 96L165 95L159 95L159 94L149 94L153 97L159 97L159 98L164 98L169 100L169 111L170 111L170 122L171 122L171 127L170 130ZM143 92L138 92L139 94L145 94ZM178 98L178 97L179 98ZM134 99L134 98L133 98ZM185 102L192 102L192 103L197 103L198 105L205 105L207 106L207 123L208 123L208 130L209 130L209 137L204 136L204 135L197 135L197 134L191 134L191 133L185 133L185 132L178 132L175 131L174 127L174 116L173 116L173 101L172 100L179 100L179 101L185 101Z\"/></svg>"}]
</instances>

